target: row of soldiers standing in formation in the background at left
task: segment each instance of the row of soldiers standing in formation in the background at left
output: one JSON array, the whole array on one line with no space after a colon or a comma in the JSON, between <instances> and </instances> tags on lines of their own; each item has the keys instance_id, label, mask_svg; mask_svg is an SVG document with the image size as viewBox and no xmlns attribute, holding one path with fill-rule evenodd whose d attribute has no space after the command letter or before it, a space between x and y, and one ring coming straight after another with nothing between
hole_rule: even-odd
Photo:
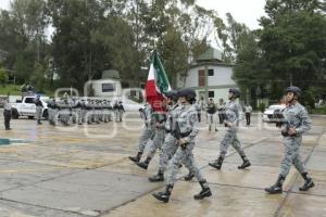
<instances>
[{"instance_id":1,"label":"row of soldiers standing in formation in the background at left","mask_svg":"<svg viewBox=\"0 0 326 217\"><path fill-rule=\"evenodd\" d=\"M53 126L59 122L64 126L68 126L71 122L78 125L109 123L113 118L115 122L122 122L124 112L122 101L115 101L113 105L108 100L90 99L52 99L48 102L49 124Z\"/></svg>"}]
</instances>

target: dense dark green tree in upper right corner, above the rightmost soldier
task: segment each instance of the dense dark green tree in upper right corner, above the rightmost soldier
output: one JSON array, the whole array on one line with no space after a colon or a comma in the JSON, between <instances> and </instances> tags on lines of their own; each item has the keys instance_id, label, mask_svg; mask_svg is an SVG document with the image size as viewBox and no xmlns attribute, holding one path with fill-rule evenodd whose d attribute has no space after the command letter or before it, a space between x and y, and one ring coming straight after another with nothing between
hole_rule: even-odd
<instances>
[{"instance_id":1,"label":"dense dark green tree in upper right corner, above the rightmost soldier","mask_svg":"<svg viewBox=\"0 0 326 217\"><path fill-rule=\"evenodd\" d=\"M268 0L265 11L259 46L269 76L283 79L283 87L308 89L325 68L326 18L319 2Z\"/></svg>"}]
</instances>

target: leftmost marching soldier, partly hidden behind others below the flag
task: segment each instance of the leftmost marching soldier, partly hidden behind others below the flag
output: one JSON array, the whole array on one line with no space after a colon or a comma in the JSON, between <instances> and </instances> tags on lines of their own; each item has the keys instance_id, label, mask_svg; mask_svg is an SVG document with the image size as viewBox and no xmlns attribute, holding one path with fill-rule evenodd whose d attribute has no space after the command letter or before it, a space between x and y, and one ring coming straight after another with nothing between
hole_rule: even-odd
<instances>
[{"instance_id":1,"label":"leftmost marching soldier, partly hidden behind others below the flag","mask_svg":"<svg viewBox=\"0 0 326 217\"><path fill-rule=\"evenodd\" d=\"M140 112L141 118L145 122L145 128L139 138L137 155L129 156L129 159L135 163L140 161L147 143L154 137L154 133L155 133L154 126L153 126L154 122L152 118L152 113L153 113L152 106L149 103L146 103L143 108L139 108L139 112Z\"/></svg>"}]
</instances>

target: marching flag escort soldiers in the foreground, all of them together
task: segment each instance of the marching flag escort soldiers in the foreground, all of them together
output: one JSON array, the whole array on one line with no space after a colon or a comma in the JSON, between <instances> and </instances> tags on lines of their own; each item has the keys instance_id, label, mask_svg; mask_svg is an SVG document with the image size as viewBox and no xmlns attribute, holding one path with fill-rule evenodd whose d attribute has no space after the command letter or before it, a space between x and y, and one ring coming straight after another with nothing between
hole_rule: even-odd
<instances>
[{"instance_id":1,"label":"marching flag escort soldiers in the foreground, all of them together","mask_svg":"<svg viewBox=\"0 0 326 217\"><path fill-rule=\"evenodd\" d=\"M297 101L301 94L301 90L298 87L289 87L286 93L288 106L284 111L284 119L286 122L281 125L281 135L285 141L285 156L276 183L265 189L268 193L283 192L283 182L289 173L291 164L296 166L304 179L304 184L299 190L308 191L314 187L312 178L309 176L299 153L302 135L311 128L311 120L305 108ZM211 167L217 170L222 168L229 145L233 145L242 158L242 164L238 166L238 169L244 169L251 166L242 148L242 143L237 136L241 106L236 102L236 99L239 97L240 91L238 89L229 89L229 101L225 105L224 119L226 133L220 143L218 157L216 161L209 163ZM202 190L193 196L195 200L209 197L212 195L212 191L196 165L192 154L195 139L199 133L198 112L195 105L196 92L189 88L179 91L168 91L165 94L165 104L166 113L154 112L149 103L145 104L145 107L140 110L146 127L139 139L138 153L136 156L129 156L129 159L135 162L137 166L147 169L156 150L160 150L159 171L156 175L149 177L150 182L164 181L164 173L168 166L165 189L162 192L152 194L159 201L165 203L170 201L176 180L176 173L181 165L186 166L189 170L189 174L184 177L184 179L189 181L196 177L201 186ZM292 124L289 125L289 123ZM147 149L148 154L146 159L141 162L147 145L149 145Z\"/></svg>"}]
</instances>

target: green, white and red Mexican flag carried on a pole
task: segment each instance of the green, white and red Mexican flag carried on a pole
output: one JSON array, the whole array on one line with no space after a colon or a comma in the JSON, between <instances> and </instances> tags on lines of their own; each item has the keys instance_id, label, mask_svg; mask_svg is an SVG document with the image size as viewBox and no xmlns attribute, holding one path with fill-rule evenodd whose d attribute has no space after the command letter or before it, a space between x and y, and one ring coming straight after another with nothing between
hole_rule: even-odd
<instances>
[{"instance_id":1,"label":"green, white and red Mexican flag carried on a pole","mask_svg":"<svg viewBox=\"0 0 326 217\"><path fill-rule=\"evenodd\" d=\"M154 51L146 84L146 100L152 105L155 112L164 111L162 106L163 93L170 90L171 86L164 67L158 52Z\"/></svg>"}]
</instances>

